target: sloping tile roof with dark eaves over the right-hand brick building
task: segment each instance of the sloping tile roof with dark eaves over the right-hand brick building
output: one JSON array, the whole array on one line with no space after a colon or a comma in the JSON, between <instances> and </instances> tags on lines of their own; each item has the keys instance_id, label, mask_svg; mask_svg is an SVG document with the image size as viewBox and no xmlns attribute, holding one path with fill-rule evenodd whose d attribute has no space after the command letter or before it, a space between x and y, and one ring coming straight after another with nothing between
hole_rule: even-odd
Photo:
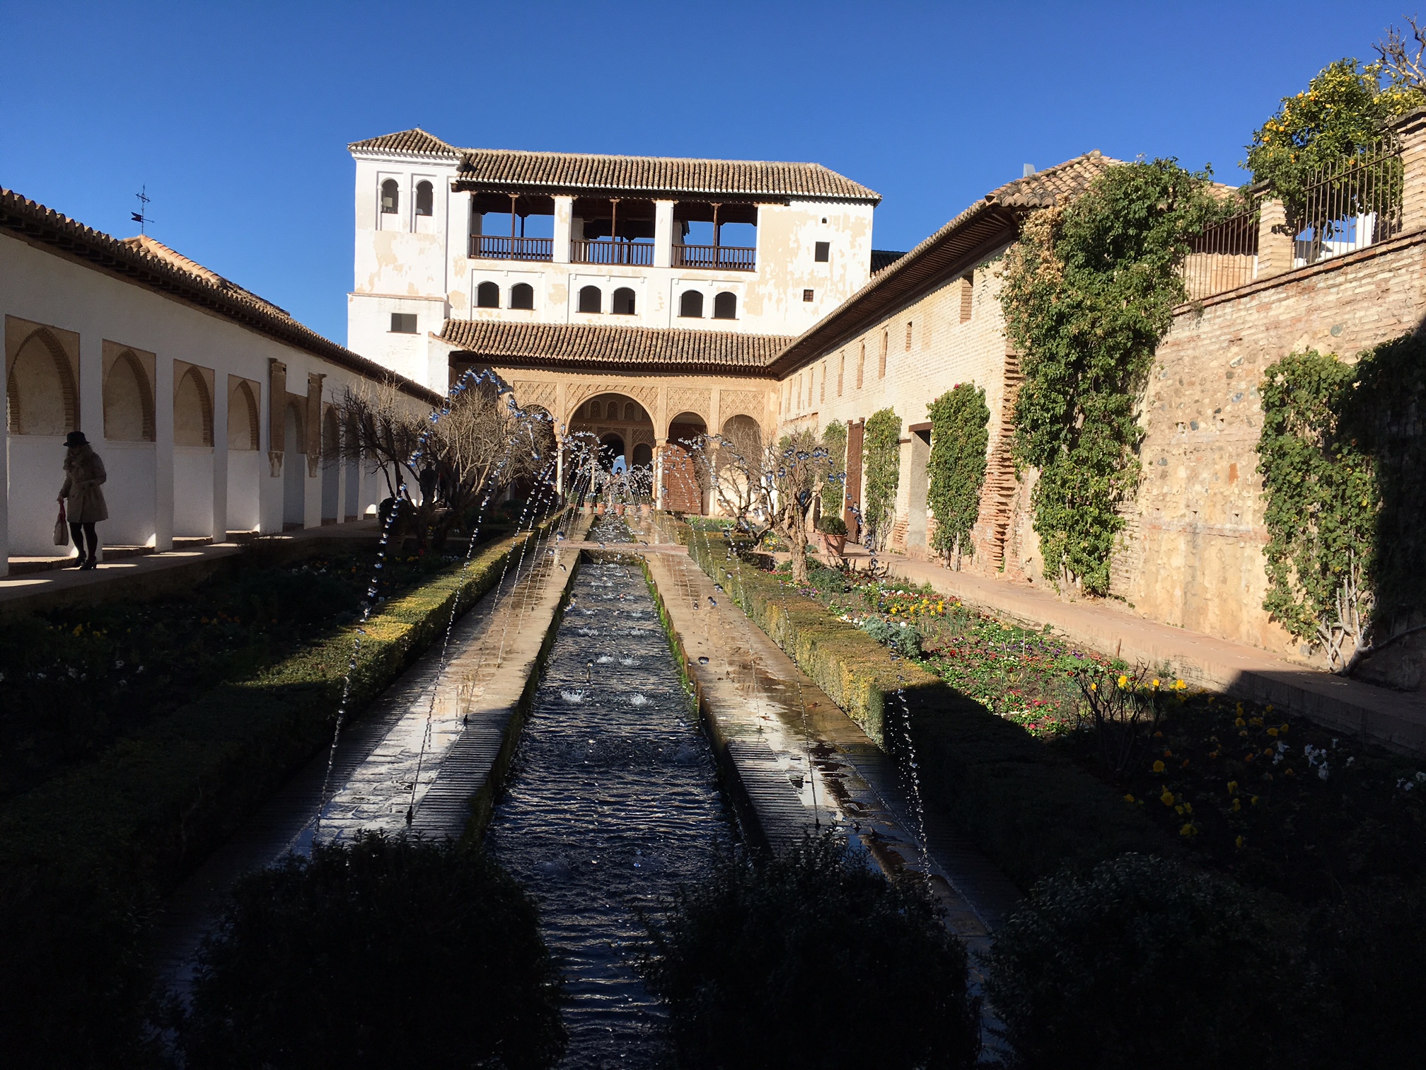
<instances>
[{"instance_id":1,"label":"sloping tile roof with dark eaves over the right-hand brick building","mask_svg":"<svg viewBox=\"0 0 1426 1070\"><path fill-rule=\"evenodd\" d=\"M1015 240L1025 213L1048 208L1060 197L1081 193L1118 163L1095 148L991 190L794 338L777 354L770 370L779 377L789 375L921 294L973 268Z\"/></svg>"}]
</instances>

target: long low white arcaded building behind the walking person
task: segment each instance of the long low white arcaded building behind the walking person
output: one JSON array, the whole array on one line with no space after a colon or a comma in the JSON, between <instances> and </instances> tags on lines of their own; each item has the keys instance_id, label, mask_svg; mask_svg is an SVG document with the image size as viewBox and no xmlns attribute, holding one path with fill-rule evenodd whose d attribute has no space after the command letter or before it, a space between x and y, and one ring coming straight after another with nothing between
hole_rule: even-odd
<instances>
[{"instance_id":1,"label":"long low white arcaded building behind the walking person","mask_svg":"<svg viewBox=\"0 0 1426 1070\"><path fill-rule=\"evenodd\" d=\"M70 431L104 459L110 546L338 524L385 496L341 461L335 407L396 377L153 238L0 190L0 317L3 561L56 554ZM422 411L441 401L396 387Z\"/></svg>"}]
</instances>

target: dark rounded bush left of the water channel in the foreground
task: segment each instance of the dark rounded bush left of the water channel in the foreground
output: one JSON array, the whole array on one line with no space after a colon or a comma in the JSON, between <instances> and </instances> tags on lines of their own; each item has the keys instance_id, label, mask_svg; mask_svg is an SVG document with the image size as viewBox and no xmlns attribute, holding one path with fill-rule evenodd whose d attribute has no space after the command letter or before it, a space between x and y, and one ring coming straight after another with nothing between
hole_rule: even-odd
<instances>
[{"instance_id":1,"label":"dark rounded bush left of the water channel in the foreground","mask_svg":"<svg viewBox=\"0 0 1426 1070\"><path fill-rule=\"evenodd\" d=\"M535 905L483 852L364 833L232 890L178 1036L208 1067L535 1070L565 1051Z\"/></svg>"}]
</instances>

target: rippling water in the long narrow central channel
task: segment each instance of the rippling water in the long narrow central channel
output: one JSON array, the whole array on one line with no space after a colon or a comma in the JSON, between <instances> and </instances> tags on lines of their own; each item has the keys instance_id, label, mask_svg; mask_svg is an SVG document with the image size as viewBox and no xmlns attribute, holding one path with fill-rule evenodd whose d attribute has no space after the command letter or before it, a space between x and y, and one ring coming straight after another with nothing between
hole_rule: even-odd
<instances>
[{"instance_id":1,"label":"rippling water in the long narrow central channel","mask_svg":"<svg viewBox=\"0 0 1426 1070\"><path fill-rule=\"evenodd\" d=\"M562 1066L656 1067L639 912L697 880L733 826L643 572L586 562L570 592L486 845L539 902L565 974Z\"/></svg>"}]
</instances>

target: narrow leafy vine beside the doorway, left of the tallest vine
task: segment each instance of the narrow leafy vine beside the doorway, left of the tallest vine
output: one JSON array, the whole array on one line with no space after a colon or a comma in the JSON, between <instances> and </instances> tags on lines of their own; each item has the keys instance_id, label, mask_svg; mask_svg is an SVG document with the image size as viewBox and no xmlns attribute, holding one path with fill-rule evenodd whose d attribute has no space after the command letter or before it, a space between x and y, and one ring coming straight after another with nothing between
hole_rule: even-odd
<instances>
[{"instance_id":1,"label":"narrow leafy vine beside the doorway, left of the tallest vine","mask_svg":"<svg viewBox=\"0 0 1426 1070\"><path fill-rule=\"evenodd\" d=\"M990 408L985 389L961 382L927 405L931 414L931 459L927 505L935 515L931 548L957 565L973 554L971 526L980 515L985 482Z\"/></svg>"}]
</instances>

